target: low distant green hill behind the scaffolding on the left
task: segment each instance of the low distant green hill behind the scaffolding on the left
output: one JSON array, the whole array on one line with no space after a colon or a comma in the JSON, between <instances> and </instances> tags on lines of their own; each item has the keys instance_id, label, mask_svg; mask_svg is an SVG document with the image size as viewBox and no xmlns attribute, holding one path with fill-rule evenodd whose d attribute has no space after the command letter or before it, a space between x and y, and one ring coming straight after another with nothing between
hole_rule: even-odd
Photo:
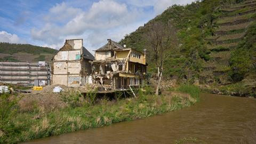
<instances>
[{"instance_id":1,"label":"low distant green hill behind the scaffolding on the left","mask_svg":"<svg viewBox=\"0 0 256 144\"><path fill-rule=\"evenodd\" d=\"M1 61L50 61L56 52L49 47L0 43Z\"/></svg>"}]
</instances>

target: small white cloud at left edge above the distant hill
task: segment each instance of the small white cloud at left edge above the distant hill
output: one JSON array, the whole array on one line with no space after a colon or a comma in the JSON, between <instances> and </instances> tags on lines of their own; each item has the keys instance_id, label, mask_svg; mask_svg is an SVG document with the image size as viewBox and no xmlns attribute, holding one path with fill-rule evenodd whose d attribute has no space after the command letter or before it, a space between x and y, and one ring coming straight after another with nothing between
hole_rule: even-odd
<instances>
[{"instance_id":1,"label":"small white cloud at left edge above the distant hill","mask_svg":"<svg viewBox=\"0 0 256 144\"><path fill-rule=\"evenodd\" d=\"M21 39L15 34L9 34L6 31L0 31L0 42L6 43L23 43Z\"/></svg>"}]
</instances>

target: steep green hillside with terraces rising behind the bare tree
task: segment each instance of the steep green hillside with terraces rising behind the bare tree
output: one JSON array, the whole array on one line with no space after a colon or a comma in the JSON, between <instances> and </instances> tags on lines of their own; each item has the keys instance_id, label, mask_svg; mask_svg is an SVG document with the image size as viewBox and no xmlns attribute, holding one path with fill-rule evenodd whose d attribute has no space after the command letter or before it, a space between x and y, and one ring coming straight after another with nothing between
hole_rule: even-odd
<instances>
[{"instance_id":1,"label":"steep green hillside with terraces rising behind the bare tree","mask_svg":"<svg viewBox=\"0 0 256 144\"><path fill-rule=\"evenodd\" d=\"M256 1L205 0L173 5L121 40L137 50L147 48L151 23L173 21L179 50L166 60L165 78L198 83L214 92L233 95L256 93ZM148 54L149 73L156 72Z\"/></svg>"}]
</instances>

